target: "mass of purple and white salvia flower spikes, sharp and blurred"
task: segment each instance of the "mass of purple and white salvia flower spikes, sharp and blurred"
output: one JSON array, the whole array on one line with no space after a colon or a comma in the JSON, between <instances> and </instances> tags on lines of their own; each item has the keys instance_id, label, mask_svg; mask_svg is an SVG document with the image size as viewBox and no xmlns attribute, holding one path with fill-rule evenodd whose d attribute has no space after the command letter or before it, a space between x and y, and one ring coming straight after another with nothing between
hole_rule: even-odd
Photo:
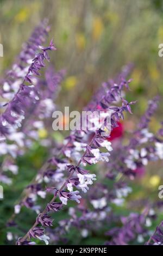
<instances>
[{"instance_id":1,"label":"mass of purple and white salvia flower spikes, sharp and blurred","mask_svg":"<svg viewBox=\"0 0 163 256\"><path fill-rule=\"evenodd\" d=\"M47 136L42 136L40 144L48 148L50 155L32 182L24 188L7 226L16 226L22 234L17 224L22 208L34 211L34 224L18 239L18 234L8 231L7 239L17 240L17 245L35 245L37 239L46 245L49 242L65 242L67 232L73 227L83 238L102 229L105 245L128 245L135 240L145 243L148 237L147 245L162 245L162 222L152 235L149 230L157 217L156 211L161 207L160 202L152 203L145 199L139 202L142 209L138 213L137 201L133 200L131 203L135 211L125 216L114 212L115 208L127 204L127 198L133 191L131 182L141 178L148 163L163 159L162 123L155 133L149 129L159 98L149 101L140 123L124 143L124 113L132 114L131 106L136 103L126 100L125 91L131 82L127 80L132 68L129 65L115 80L102 83L85 107L92 112L103 111L102 124L98 125L96 118L90 118L92 130L81 128L72 131L63 143L55 143L48 136L50 132L46 126L51 122L56 107L54 100L65 71L57 72L49 66L45 78L40 78L45 60L49 62L48 52L56 50L53 41L47 47L41 46L48 31L46 20L35 29L4 78L0 92L6 101L0 116L0 155L3 156L0 180L11 183L5 172L18 173L15 159L39 139L41 131ZM106 122L108 111L110 124ZM44 209L41 199L45 202ZM67 209L70 203L69 217L57 223L55 215L63 208Z\"/></svg>"}]
</instances>

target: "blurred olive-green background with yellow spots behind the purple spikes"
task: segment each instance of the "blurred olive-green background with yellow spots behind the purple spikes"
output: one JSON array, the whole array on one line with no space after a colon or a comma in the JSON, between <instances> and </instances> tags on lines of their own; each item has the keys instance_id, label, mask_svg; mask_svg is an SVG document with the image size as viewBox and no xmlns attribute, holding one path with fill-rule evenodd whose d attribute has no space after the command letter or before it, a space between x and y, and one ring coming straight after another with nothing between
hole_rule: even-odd
<instances>
[{"instance_id":1,"label":"blurred olive-green background with yellow spots behind the purple spikes","mask_svg":"<svg viewBox=\"0 0 163 256\"><path fill-rule=\"evenodd\" d=\"M124 124L128 131L133 130L147 101L156 94L163 95L163 58L158 56L158 46L163 43L162 0L1 0L0 43L4 47L1 76L10 68L22 43L45 17L51 25L48 39L53 38L57 47L51 63L57 70L66 69L57 100L60 109L70 106L71 110L81 110L103 81L114 78L122 66L133 63L130 74L133 81L127 99L137 103L133 107L134 115ZM161 98L152 119L152 131L158 129L162 107ZM61 140L64 135L57 133L54 137ZM11 191L6 192L8 200L3 206L0 202L0 243L5 243L3 228L12 205L46 157L46 149L36 144L17 160L20 175L15 178ZM155 196L157 187L163 183L162 170L161 164L151 164L144 179L135 185L131 200L146 197L148 193ZM26 230L28 224L23 218L30 217L24 213L19 220ZM100 237L96 239L97 244L101 242ZM90 241L93 240L78 242L89 244Z\"/></svg>"}]
</instances>

